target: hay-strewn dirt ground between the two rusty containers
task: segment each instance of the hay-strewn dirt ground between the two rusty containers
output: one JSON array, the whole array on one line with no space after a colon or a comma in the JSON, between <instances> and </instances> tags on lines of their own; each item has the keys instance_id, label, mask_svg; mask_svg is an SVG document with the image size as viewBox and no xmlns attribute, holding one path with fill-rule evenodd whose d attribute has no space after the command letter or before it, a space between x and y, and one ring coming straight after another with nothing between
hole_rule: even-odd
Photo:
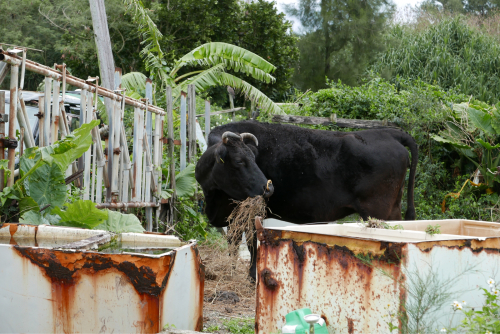
<instances>
[{"instance_id":1,"label":"hay-strewn dirt ground between the two rusty containers","mask_svg":"<svg viewBox=\"0 0 500 334\"><path fill-rule=\"evenodd\" d=\"M228 324L253 328L255 284L248 279L250 261L230 256L227 244L222 241L202 244L199 251L205 264L204 331L233 333Z\"/></svg>"}]
</instances>

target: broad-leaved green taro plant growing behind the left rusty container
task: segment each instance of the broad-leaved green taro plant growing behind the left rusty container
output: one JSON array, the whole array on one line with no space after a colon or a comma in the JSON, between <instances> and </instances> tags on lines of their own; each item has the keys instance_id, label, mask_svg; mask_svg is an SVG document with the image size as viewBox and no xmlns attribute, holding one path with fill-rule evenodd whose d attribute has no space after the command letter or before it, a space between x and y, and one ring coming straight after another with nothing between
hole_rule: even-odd
<instances>
[{"instance_id":1,"label":"broad-leaved green taro plant growing behind the left rusty container","mask_svg":"<svg viewBox=\"0 0 500 334\"><path fill-rule=\"evenodd\" d=\"M64 172L92 144L91 130L99 124L92 121L70 135L46 147L33 147L20 158L20 178L0 193L3 221L26 224L50 224L81 228L98 228L114 232L142 232L137 217L99 210L91 201L71 200ZM7 160L0 161L6 169Z\"/></svg>"}]
</instances>

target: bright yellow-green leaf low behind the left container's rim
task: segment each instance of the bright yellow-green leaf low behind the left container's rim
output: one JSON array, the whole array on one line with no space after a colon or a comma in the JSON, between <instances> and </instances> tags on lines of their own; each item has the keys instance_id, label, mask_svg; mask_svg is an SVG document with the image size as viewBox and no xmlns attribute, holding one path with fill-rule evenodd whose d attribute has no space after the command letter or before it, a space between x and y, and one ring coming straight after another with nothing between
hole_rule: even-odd
<instances>
[{"instance_id":1,"label":"bright yellow-green leaf low behind the left container's rim","mask_svg":"<svg viewBox=\"0 0 500 334\"><path fill-rule=\"evenodd\" d=\"M96 209L92 201L78 200L71 204L66 204L66 210L59 207L52 210L52 214L57 214L61 220L56 225L72 226L92 229L108 219L108 212Z\"/></svg>"}]
</instances>

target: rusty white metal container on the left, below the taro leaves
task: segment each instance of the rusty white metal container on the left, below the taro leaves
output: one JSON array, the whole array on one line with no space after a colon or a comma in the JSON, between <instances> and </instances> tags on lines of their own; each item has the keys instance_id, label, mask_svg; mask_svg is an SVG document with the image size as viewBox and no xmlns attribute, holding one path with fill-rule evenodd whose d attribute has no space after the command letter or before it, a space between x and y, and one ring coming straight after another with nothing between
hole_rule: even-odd
<instances>
[{"instance_id":1,"label":"rusty white metal container on the left, below the taro leaves","mask_svg":"<svg viewBox=\"0 0 500 334\"><path fill-rule=\"evenodd\" d=\"M203 327L204 267L196 242L22 224L4 224L0 242L0 332ZM116 244L127 251L106 248Z\"/></svg>"}]
</instances>

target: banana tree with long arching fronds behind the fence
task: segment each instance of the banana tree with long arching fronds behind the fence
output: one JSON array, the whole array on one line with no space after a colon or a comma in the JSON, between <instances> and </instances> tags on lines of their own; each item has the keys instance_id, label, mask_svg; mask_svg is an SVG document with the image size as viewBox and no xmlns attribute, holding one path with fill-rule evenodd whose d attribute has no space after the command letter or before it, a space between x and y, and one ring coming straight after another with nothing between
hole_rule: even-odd
<instances>
[{"instance_id":1,"label":"banana tree with long arching fronds behind the fence","mask_svg":"<svg viewBox=\"0 0 500 334\"><path fill-rule=\"evenodd\" d=\"M123 0L123 2L143 38L144 46L140 54L144 59L146 69L151 73L153 80L159 87L164 88L169 85L173 88L174 98L178 98L182 90L186 91L189 84L194 84L197 92L203 92L215 86L231 86L248 99L256 102L264 112L283 113L260 90L245 80L227 73L228 70L231 70L269 83L275 81L272 73L276 67L273 64L236 45L212 42L188 52L175 62L173 68L169 68L163 59L163 51L160 48L162 34L149 17L142 2L139 0ZM200 66L203 69L178 75L184 67L192 68L194 66ZM129 80L132 77L137 77L137 74L129 73L124 75L123 79ZM132 89L132 87L129 88Z\"/></svg>"}]
</instances>

